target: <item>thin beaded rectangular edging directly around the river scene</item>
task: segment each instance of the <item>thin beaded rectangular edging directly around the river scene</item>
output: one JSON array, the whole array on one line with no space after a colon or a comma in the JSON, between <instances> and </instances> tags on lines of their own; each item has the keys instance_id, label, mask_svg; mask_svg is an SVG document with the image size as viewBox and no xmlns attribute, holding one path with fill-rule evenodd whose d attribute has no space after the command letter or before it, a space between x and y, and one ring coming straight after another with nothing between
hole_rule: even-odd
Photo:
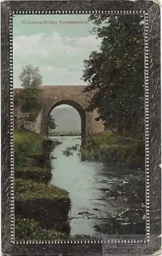
<instances>
[{"instance_id":1,"label":"thin beaded rectangular edging directly around the river scene","mask_svg":"<svg viewBox=\"0 0 162 256\"><path fill-rule=\"evenodd\" d=\"M24 240L21 240L21 241L15 241L14 240L14 223L13 223L13 220L14 220L14 212L12 212L12 209L11 209L11 214L12 214L12 219L11 219L11 243L13 244L122 244L122 243L125 243L125 244L139 244L139 243L149 243L149 239L150 239L150 223L149 223L149 86L148 86L148 13L145 12L145 10L141 11L141 10L133 10L133 11L110 11L110 10L92 10L92 11L11 11L10 12L10 26L12 28L12 23L13 23L13 15L33 15L33 14L37 14L37 15L41 15L41 14L53 14L53 15L59 15L59 14L107 14L107 15L142 15L144 16L144 41L145 41L145 45L144 45L144 55L145 55L145 62L144 62L144 67L145 67L145 150L146 150L146 159L145 159L145 175L146 175L146 186L147 186L147 193L146 193L146 237L138 237L136 236L136 238L134 237L125 237L125 236L121 236L123 237L122 239L119 239L117 237L119 236L115 236L115 234L113 236L109 236L109 239L103 239L102 236L101 239L99 239L98 237L96 237L95 240L54 240L54 241L24 241ZM12 30L10 31L10 37L12 36L11 33ZM10 46L13 48L12 46L12 37L10 39ZM11 83L11 89L10 90L13 90L13 60L12 60L12 50L11 50L11 53L10 53L10 83ZM12 98L10 99L12 100L13 102L13 94L12 94ZM10 118L11 119L11 118ZM11 129L13 129L13 120L11 119ZM10 138L11 143L13 142L13 138L11 137ZM11 150L13 148L13 144L11 144ZM11 158L11 175L13 174L12 173L12 169L13 169L13 166L14 166L14 161L13 161L13 158ZM14 191L14 176L11 176L11 189L12 191ZM14 194L11 195L11 204L12 202L14 201ZM132 235L133 236L133 235Z\"/></svg>"}]
</instances>

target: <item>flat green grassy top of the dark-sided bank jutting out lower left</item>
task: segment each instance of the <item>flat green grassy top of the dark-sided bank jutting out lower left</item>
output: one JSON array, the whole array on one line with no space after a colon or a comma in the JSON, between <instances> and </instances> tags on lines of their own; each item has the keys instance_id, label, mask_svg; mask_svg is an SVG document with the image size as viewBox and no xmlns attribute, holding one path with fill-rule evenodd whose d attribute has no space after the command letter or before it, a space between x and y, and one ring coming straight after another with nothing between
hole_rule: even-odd
<instances>
[{"instance_id":1,"label":"flat green grassy top of the dark-sided bank jutting out lower left","mask_svg":"<svg viewBox=\"0 0 162 256\"><path fill-rule=\"evenodd\" d=\"M16 179L15 180L15 200L31 200L31 199L69 199L69 193L65 189L45 184L42 182L34 182L31 180Z\"/></svg>"}]
</instances>

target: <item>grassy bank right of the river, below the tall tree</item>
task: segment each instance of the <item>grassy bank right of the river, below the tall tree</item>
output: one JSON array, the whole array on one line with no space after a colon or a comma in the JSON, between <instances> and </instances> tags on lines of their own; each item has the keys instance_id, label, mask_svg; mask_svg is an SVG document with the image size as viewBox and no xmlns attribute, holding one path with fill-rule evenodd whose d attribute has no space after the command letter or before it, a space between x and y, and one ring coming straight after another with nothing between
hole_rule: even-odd
<instances>
[{"instance_id":1,"label":"grassy bank right of the river, below the tall tree","mask_svg":"<svg viewBox=\"0 0 162 256\"><path fill-rule=\"evenodd\" d=\"M145 165L145 144L143 140L100 133L89 139L80 149L83 158L112 160L123 165L143 168Z\"/></svg>"}]
</instances>

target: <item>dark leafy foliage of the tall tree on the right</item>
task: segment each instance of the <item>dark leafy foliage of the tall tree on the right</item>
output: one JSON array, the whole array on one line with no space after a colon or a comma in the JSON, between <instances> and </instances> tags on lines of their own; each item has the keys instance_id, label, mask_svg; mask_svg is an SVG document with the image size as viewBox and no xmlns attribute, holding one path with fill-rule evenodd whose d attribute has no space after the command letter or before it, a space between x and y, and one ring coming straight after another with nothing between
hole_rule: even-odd
<instances>
[{"instance_id":1,"label":"dark leafy foliage of the tall tree on the right","mask_svg":"<svg viewBox=\"0 0 162 256\"><path fill-rule=\"evenodd\" d=\"M144 26L139 15L91 15L100 50L85 60L86 92L94 91L88 111L98 109L118 134L144 133Z\"/></svg>"}]
</instances>

